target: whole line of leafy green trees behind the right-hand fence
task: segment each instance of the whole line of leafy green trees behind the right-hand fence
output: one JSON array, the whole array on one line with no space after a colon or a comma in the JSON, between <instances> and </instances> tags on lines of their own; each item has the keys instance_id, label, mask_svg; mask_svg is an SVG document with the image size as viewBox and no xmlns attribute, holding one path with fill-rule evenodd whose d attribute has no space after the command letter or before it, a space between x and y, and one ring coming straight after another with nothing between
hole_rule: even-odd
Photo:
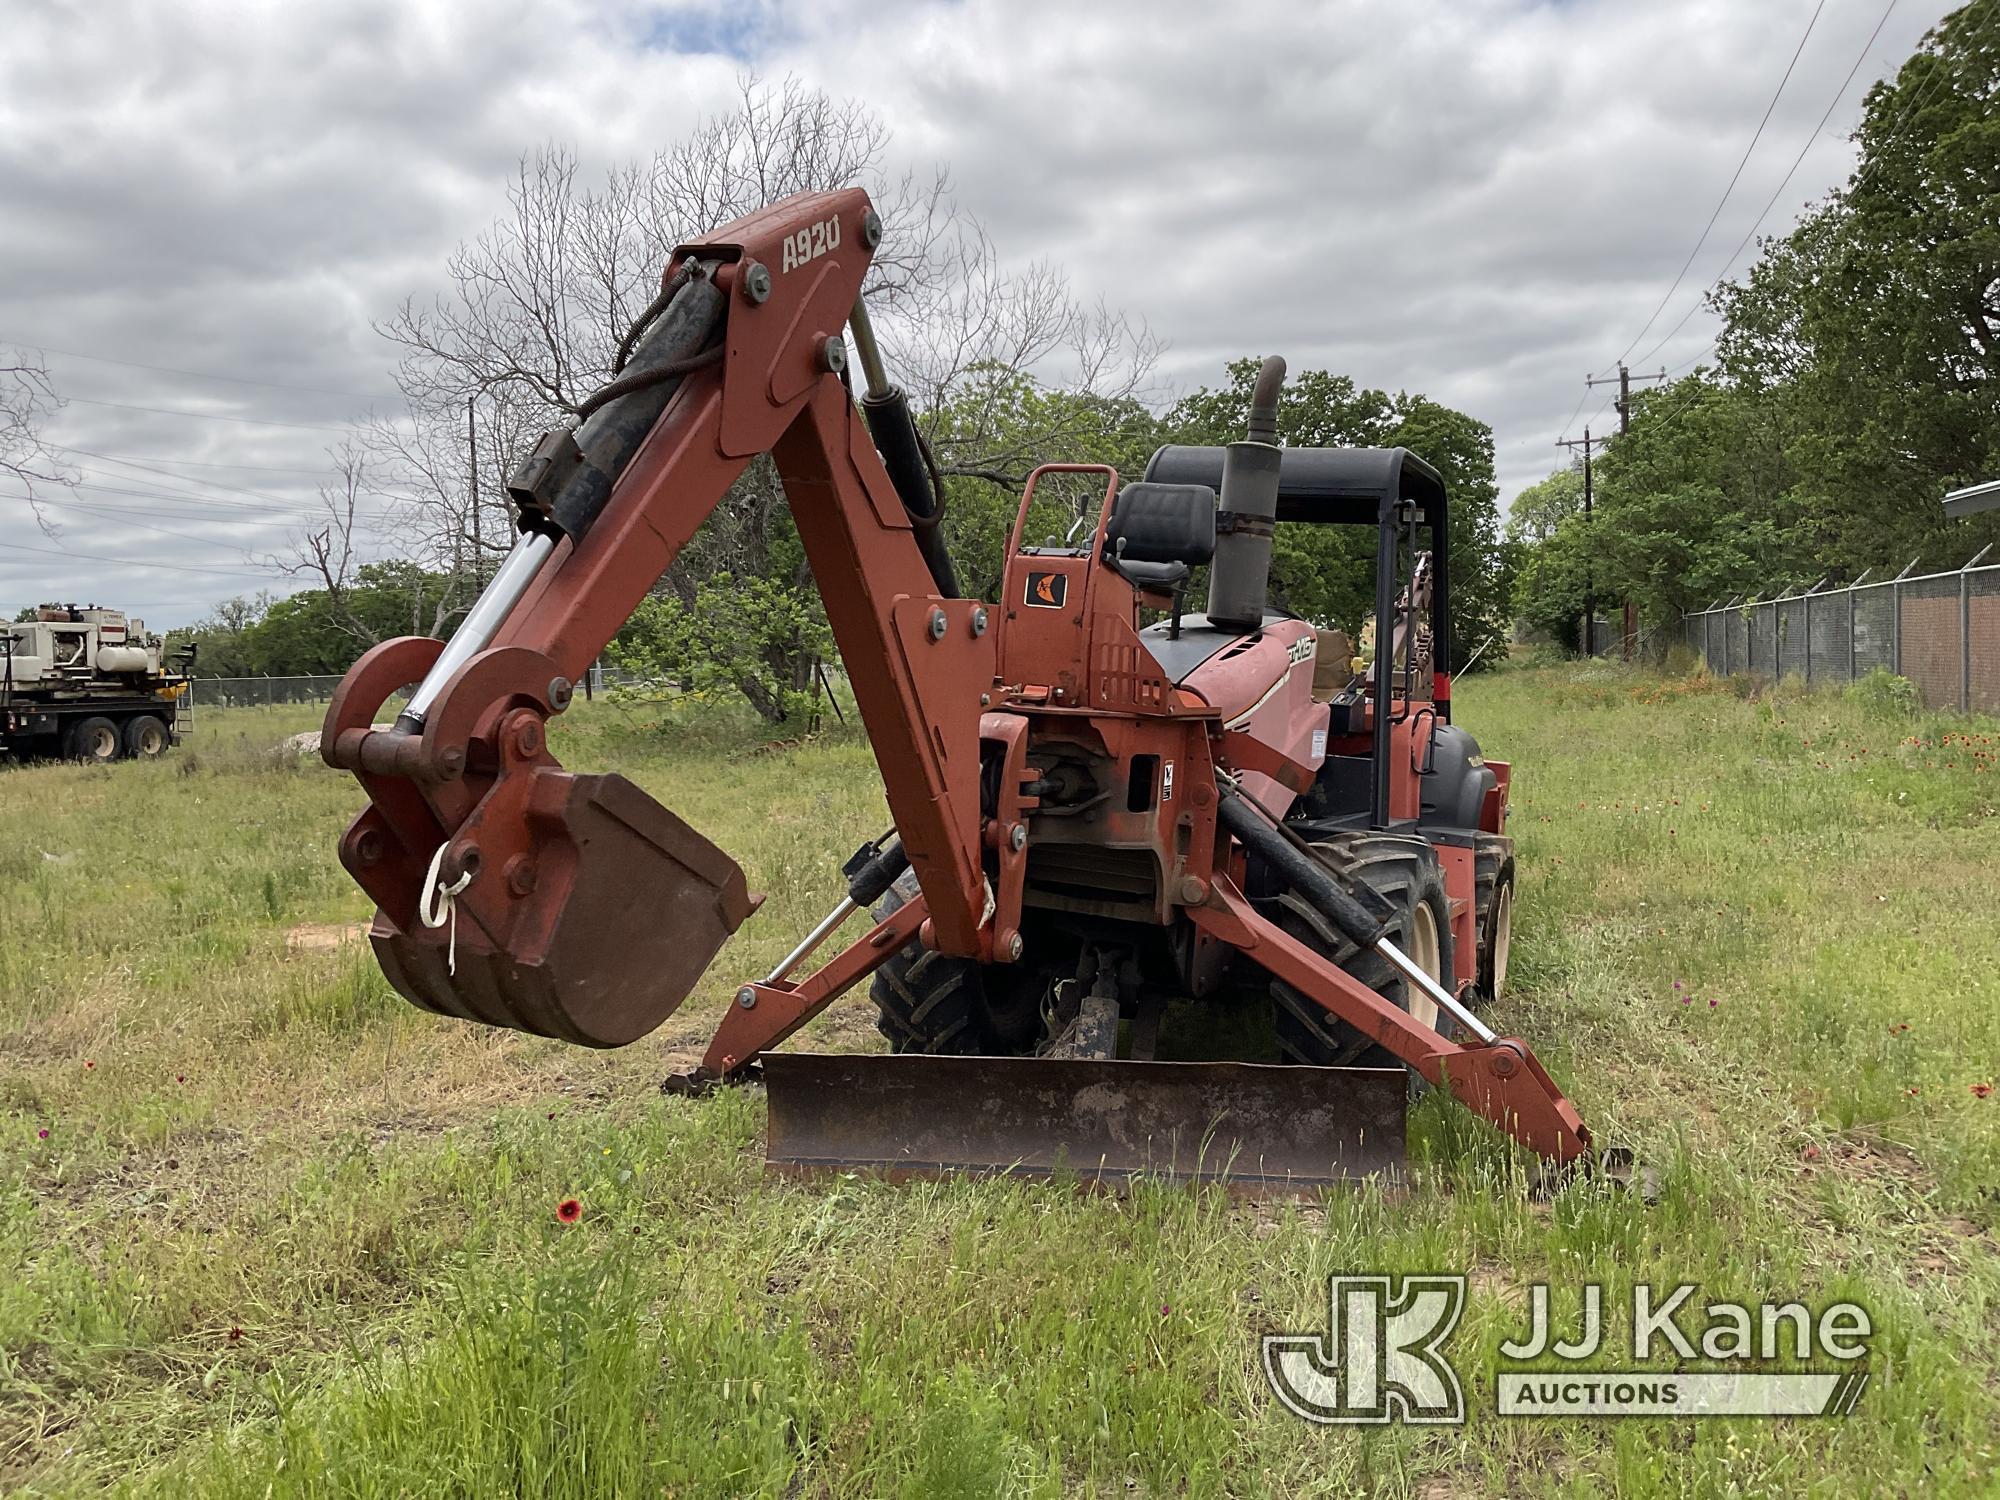
<instances>
[{"instance_id":1,"label":"whole line of leafy green trees behind the right-hand fence","mask_svg":"<svg viewBox=\"0 0 2000 1500\"><path fill-rule=\"evenodd\" d=\"M1856 132L1860 164L1722 286L1714 370L1634 396L1596 520L1516 502L1516 608L1568 638L1578 578L1650 624L1822 576L1960 564L2000 518L1940 496L2000 472L2000 6L1948 16Z\"/></svg>"}]
</instances>

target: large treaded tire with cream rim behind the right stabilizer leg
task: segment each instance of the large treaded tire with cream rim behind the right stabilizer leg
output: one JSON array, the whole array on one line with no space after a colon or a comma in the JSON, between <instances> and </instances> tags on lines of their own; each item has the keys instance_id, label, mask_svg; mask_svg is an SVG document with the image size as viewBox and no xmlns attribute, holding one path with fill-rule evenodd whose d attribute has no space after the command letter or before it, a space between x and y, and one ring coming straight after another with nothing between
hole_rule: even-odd
<instances>
[{"instance_id":1,"label":"large treaded tire with cream rim behind the right stabilizer leg","mask_svg":"<svg viewBox=\"0 0 2000 1500\"><path fill-rule=\"evenodd\" d=\"M1366 884L1382 896L1394 916L1388 940L1414 958L1440 984L1452 972L1450 900L1444 894L1444 868L1438 852L1420 838L1392 834L1334 834L1314 840L1314 852L1332 870ZM1326 954L1348 974L1416 1020L1452 1034L1450 1016L1422 992L1410 994L1410 984L1374 950L1358 950L1346 934L1328 922L1302 896L1286 892L1278 898L1278 926L1314 952ZM1278 1050L1292 1062L1320 1068L1396 1068L1402 1060L1370 1040L1344 1020L1308 1000L1282 980L1270 986L1278 1030Z\"/></svg>"}]
</instances>

